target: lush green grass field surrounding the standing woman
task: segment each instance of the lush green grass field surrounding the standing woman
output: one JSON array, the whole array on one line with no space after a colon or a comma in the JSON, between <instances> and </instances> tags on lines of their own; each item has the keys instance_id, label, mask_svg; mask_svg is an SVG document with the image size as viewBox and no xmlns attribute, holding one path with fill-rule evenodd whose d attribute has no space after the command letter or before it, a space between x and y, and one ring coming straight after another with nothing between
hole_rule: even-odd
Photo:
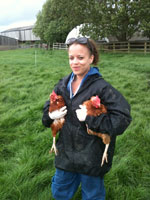
<instances>
[{"instance_id":1,"label":"lush green grass field surrounding the standing woman","mask_svg":"<svg viewBox=\"0 0 150 200\"><path fill-rule=\"evenodd\" d=\"M99 67L129 101L133 118L117 138L106 200L149 200L150 56L101 54ZM52 200L54 155L42 108L69 72L65 51L0 51L0 200ZM73 200L81 200L80 189Z\"/></svg>"}]
</instances>

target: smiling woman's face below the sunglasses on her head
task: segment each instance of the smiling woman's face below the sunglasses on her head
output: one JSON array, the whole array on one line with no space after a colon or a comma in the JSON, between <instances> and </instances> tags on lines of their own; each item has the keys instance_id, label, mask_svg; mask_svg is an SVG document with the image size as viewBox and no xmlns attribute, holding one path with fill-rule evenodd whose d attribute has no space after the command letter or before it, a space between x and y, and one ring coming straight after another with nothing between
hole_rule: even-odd
<instances>
[{"instance_id":1,"label":"smiling woman's face below the sunglasses on her head","mask_svg":"<svg viewBox=\"0 0 150 200\"><path fill-rule=\"evenodd\" d=\"M68 50L69 64L77 78L83 78L90 69L94 56L82 44L72 44Z\"/></svg>"}]
</instances>

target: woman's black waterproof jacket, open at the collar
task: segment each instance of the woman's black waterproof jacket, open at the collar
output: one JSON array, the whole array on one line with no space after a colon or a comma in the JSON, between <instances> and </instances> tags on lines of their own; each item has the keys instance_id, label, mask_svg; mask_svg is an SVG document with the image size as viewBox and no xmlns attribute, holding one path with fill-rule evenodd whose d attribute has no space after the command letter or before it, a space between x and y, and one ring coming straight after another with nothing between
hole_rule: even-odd
<instances>
[{"instance_id":1,"label":"woman's black waterproof jacket, open at the collar","mask_svg":"<svg viewBox=\"0 0 150 200\"><path fill-rule=\"evenodd\" d=\"M116 136L122 134L131 122L130 106L122 94L98 74L88 76L74 98L70 99L67 89L70 77L71 75L60 80L54 89L58 95L63 96L68 110L56 143L58 155L55 156L55 167L103 177L112 166ZM94 95L100 97L108 113L98 117L87 116L85 122L80 122L76 116L76 109ZM43 109L42 122L46 127L50 127L52 123L48 116L49 104L47 101ZM105 145L101 138L88 135L85 124L88 124L91 130L111 136L108 163L105 162L102 167Z\"/></svg>"}]
</instances>

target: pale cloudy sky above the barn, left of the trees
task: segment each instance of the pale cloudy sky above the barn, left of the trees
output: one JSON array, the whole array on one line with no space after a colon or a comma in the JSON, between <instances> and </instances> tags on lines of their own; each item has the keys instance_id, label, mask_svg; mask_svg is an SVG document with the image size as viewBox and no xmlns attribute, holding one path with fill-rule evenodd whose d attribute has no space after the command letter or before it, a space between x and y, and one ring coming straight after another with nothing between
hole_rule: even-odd
<instances>
[{"instance_id":1,"label":"pale cloudy sky above the barn, left of the trees","mask_svg":"<svg viewBox=\"0 0 150 200\"><path fill-rule=\"evenodd\" d=\"M46 0L0 0L0 32L33 25Z\"/></svg>"}]
</instances>

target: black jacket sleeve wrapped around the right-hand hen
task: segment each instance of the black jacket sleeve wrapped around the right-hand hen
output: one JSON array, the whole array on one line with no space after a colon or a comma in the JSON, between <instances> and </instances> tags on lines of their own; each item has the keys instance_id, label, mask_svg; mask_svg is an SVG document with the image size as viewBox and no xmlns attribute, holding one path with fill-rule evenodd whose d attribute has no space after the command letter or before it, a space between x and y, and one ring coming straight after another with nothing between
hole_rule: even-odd
<instances>
[{"instance_id":1,"label":"black jacket sleeve wrapped around the right-hand hen","mask_svg":"<svg viewBox=\"0 0 150 200\"><path fill-rule=\"evenodd\" d=\"M106 84L100 94L102 103L107 107L107 113L98 117L87 116L85 123L88 128L101 133L120 135L131 122L130 105L122 94Z\"/></svg>"}]
</instances>

